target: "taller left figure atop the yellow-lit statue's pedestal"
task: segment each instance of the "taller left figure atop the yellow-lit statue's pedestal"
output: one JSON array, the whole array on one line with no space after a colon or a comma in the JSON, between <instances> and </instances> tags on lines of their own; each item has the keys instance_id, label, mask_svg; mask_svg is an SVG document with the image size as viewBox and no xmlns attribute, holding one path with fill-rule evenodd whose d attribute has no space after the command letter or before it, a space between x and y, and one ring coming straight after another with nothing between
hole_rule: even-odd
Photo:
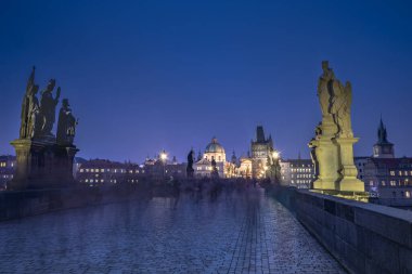
<instances>
[{"instance_id":1,"label":"taller left figure atop the yellow-lit statue's pedestal","mask_svg":"<svg viewBox=\"0 0 412 274\"><path fill-rule=\"evenodd\" d=\"M333 94L331 94L330 86L335 79L335 74L332 68L329 67L327 61L322 62L322 69L323 74L319 77L318 82L318 97L321 105L322 115L326 116L331 114L331 97Z\"/></svg>"}]
</instances>

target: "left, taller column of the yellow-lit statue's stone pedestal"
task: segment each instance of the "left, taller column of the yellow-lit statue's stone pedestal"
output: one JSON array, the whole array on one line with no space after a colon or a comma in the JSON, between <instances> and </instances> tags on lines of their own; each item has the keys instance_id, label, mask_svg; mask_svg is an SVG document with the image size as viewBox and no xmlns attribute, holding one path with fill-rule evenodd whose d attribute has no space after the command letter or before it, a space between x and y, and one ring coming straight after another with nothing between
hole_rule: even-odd
<instances>
[{"instance_id":1,"label":"left, taller column of the yellow-lit statue's stone pedestal","mask_svg":"<svg viewBox=\"0 0 412 274\"><path fill-rule=\"evenodd\" d=\"M332 141L337 127L332 116L324 116L320 126L322 133L314 141L316 156L319 162L319 177L313 182L316 190L336 190L336 181L339 179L337 172L339 162L336 157L338 147Z\"/></svg>"}]
</instances>

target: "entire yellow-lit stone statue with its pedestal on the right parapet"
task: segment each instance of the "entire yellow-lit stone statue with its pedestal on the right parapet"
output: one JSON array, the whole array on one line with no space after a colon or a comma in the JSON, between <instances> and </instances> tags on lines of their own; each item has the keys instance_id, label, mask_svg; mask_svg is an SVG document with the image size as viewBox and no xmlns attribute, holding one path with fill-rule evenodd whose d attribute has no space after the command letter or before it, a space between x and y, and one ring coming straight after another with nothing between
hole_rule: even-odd
<instances>
[{"instance_id":1,"label":"entire yellow-lit stone statue with its pedestal on the right parapet","mask_svg":"<svg viewBox=\"0 0 412 274\"><path fill-rule=\"evenodd\" d=\"M358 139L353 138L351 128L351 84L348 81L344 87L327 61L322 62L322 69L318 84L322 122L309 143L317 174L313 188L364 192L353 164L353 144Z\"/></svg>"}]
</instances>

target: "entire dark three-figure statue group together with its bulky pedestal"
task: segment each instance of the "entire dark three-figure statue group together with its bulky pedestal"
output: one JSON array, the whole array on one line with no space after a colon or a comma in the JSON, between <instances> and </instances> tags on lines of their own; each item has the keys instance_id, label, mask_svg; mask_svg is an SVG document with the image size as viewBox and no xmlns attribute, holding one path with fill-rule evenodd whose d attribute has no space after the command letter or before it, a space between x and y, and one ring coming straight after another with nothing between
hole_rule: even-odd
<instances>
[{"instance_id":1,"label":"entire dark three-figure statue group together with its bulky pedestal","mask_svg":"<svg viewBox=\"0 0 412 274\"><path fill-rule=\"evenodd\" d=\"M16 170L8 190L67 187L73 185L73 161L77 147L73 144L77 120L68 101L64 100L59 115L57 140L52 133L55 108L61 89L53 97L55 80L51 79L41 101L33 68L23 97L20 138L11 142L16 152Z\"/></svg>"}]
</instances>

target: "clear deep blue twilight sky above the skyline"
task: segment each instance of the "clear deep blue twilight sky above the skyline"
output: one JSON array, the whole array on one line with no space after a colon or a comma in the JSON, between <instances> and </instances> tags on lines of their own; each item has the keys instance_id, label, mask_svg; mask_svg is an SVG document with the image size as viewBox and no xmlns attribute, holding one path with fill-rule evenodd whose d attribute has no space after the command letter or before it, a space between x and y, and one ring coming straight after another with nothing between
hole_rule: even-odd
<instances>
[{"instance_id":1,"label":"clear deep blue twilight sky above the skyline","mask_svg":"<svg viewBox=\"0 0 412 274\"><path fill-rule=\"evenodd\" d=\"M353 88L357 155L381 114L412 155L410 1L0 1L0 154L14 154L33 65L80 118L86 158L184 160L216 135L244 154L257 125L284 157L309 157L321 61Z\"/></svg>"}]
</instances>

